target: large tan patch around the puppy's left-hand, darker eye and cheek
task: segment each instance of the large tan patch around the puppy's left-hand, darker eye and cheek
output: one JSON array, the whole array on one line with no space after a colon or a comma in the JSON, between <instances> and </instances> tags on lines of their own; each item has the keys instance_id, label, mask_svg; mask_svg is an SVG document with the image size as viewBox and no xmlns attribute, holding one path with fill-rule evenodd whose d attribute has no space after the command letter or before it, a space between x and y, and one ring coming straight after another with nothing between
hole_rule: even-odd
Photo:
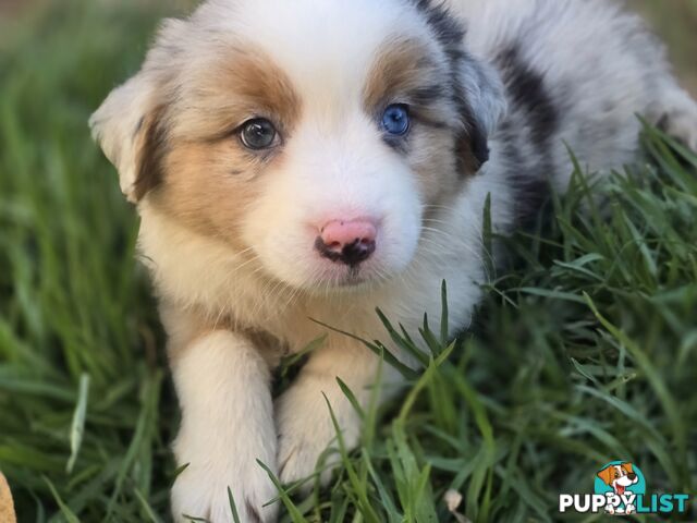
<instances>
[{"instance_id":1,"label":"large tan patch around the puppy's left-hand, darker eye and cheek","mask_svg":"<svg viewBox=\"0 0 697 523\"><path fill-rule=\"evenodd\" d=\"M206 236L240 251L241 231L265 174L283 161L283 143L301 117L301 99L286 75L256 52L233 49L216 58L216 68L191 78L173 104L164 177L152 204ZM249 150L240 127L254 118L270 120L281 144Z\"/></svg>"}]
</instances>

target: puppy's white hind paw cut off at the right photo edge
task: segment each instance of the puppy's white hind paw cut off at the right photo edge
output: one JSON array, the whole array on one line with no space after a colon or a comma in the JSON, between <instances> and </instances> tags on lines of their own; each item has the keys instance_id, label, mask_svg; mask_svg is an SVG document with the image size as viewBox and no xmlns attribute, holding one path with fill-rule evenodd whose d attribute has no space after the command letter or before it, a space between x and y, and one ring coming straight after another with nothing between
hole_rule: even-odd
<instances>
[{"instance_id":1,"label":"puppy's white hind paw cut off at the right photo edge","mask_svg":"<svg viewBox=\"0 0 697 523\"><path fill-rule=\"evenodd\" d=\"M697 102L672 81L649 111L651 123L697 151Z\"/></svg>"}]
</instances>

